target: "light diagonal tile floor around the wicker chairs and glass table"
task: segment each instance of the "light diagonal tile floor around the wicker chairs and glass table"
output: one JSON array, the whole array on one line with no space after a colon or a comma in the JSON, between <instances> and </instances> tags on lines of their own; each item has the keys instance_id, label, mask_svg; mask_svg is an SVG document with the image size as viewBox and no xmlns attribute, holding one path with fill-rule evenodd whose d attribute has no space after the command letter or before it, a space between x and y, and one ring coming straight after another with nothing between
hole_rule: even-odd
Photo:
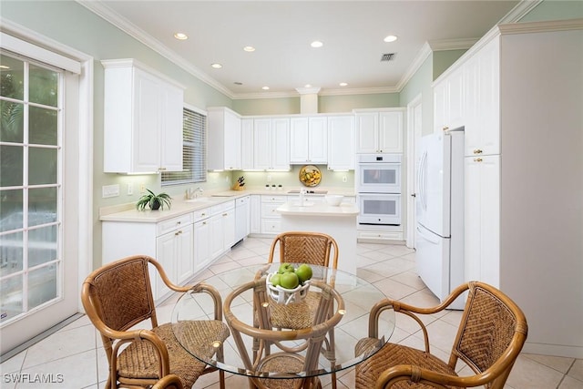
<instances>
[{"instance_id":1,"label":"light diagonal tile floor around the wicker chairs and glass table","mask_svg":"<svg viewBox=\"0 0 583 389\"><path fill-rule=\"evenodd\" d=\"M217 273L236 266L267 260L271 239L251 238L241 242L207 271ZM415 273L414 251L404 246L358 244L358 274L373 282L380 290L396 299L418 305L437 302ZM199 278L205 278L203 272ZM161 322L168 321L173 301L158 308ZM401 315L402 316L402 315ZM432 318L428 330L433 351L446 358L455 335L460 312L451 311ZM416 328L400 318L391 341L412 346L422 345ZM86 316L71 322L61 330L0 364L2 388L103 388L107 378L107 359L101 340ZM28 374L28 375L26 375ZM38 383L36 377L52 378L53 383ZM15 384L16 377L26 383ZM218 374L207 374L194 388L219 388ZM330 388L329 378L322 384ZM247 381L237 375L227 376L228 388L248 387ZM340 389L354 387L353 369L338 374ZM523 353L506 382L508 389L581 389L583 388L583 360Z\"/></svg>"}]
</instances>

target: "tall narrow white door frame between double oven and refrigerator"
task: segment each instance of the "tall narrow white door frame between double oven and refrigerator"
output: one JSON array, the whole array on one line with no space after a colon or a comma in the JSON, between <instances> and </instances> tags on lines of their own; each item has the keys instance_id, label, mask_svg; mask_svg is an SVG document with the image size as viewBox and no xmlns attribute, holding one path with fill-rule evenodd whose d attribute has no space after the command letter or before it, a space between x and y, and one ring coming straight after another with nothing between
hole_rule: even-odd
<instances>
[{"instance_id":1,"label":"tall narrow white door frame between double oven and refrigerator","mask_svg":"<svg viewBox=\"0 0 583 389\"><path fill-rule=\"evenodd\" d=\"M407 104L407 247L415 247L415 198L417 159L415 150L419 146L422 133L422 96L414 97Z\"/></svg>"}]
</instances>

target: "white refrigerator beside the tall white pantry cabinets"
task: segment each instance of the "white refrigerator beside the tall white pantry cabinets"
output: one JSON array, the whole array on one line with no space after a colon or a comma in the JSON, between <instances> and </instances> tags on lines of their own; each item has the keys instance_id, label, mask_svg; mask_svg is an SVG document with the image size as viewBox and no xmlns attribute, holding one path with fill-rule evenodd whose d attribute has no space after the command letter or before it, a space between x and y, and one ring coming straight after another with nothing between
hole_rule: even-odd
<instances>
[{"instance_id":1,"label":"white refrigerator beside the tall white pantry cabinets","mask_svg":"<svg viewBox=\"0 0 583 389\"><path fill-rule=\"evenodd\" d=\"M421 138L415 196L417 272L440 302L465 282L464 128ZM451 308L464 309L465 296Z\"/></svg>"}]
</instances>

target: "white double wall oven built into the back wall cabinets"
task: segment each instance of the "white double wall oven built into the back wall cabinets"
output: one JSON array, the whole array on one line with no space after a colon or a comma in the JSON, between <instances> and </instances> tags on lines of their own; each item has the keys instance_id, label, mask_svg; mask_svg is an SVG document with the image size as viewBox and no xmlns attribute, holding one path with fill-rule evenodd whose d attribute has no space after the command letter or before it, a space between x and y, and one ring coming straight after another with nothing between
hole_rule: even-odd
<instances>
[{"instance_id":1,"label":"white double wall oven built into the back wall cabinets","mask_svg":"<svg viewBox=\"0 0 583 389\"><path fill-rule=\"evenodd\" d=\"M358 155L359 224L401 225L401 162L401 154Z\"/></svg>"}]
</instances>

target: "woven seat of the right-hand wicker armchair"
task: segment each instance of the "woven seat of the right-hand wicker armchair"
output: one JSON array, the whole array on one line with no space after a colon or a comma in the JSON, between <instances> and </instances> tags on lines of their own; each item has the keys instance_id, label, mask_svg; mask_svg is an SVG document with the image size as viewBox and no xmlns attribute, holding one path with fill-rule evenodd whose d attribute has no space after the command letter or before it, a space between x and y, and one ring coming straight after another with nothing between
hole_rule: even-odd
<instances>
[{"instance_id":1,"label":"woven seat of the right-hand wicker armchair","mask_svg":"<svg viewBox=\"0 0 583 389\"><path fill-rule=\"evenodd\" d=\"M372 338L366 338L359 341L359 343L363 345L361 351L365 350L367 343L372 342L369 340L372 340ZM378 340L373 341L378 342ZM371 358L356 366L356 389L373 388L376 384L376 378L386 369L392 366L396 366L397 364L412 364L414 366L419 366L437 373L457 375L455 374L455 371L447 365L447 363L443 362L439 358L436 358L430 353L425 353L424 351L400 344L386 343L384 344L383 348L377 353L374 353ZM392 387L397 389L432 389L435 386L414 384L409 381L402 381ZM444 387L452 389L456 388L456 386Z\"/></svg>"}]
</instances>

